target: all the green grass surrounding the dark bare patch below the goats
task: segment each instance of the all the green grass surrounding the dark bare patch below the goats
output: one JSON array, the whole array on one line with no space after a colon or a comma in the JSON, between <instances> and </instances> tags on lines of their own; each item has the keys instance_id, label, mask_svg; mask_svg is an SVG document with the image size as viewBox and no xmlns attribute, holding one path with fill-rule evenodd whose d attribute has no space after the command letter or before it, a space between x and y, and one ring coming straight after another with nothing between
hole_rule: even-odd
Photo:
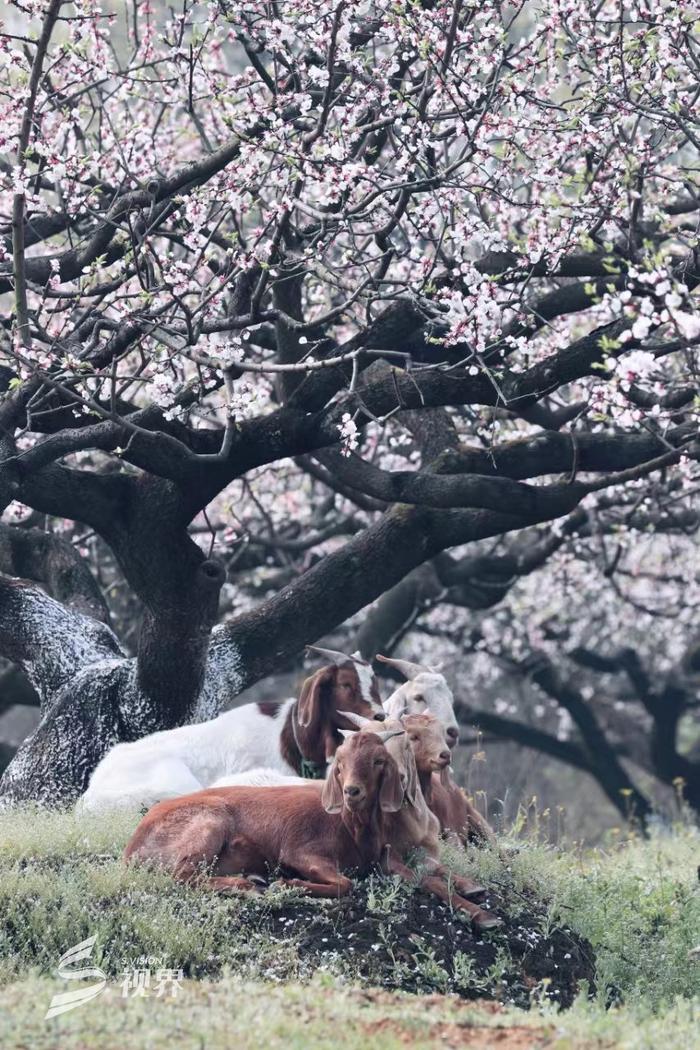
<instances>
[{"instance_id":1,"label":"all the green grass surrounding the dark bare patch below the goats","mask_svg":"<svg viewBox=\"0 0 700 1050\"><path fill-rule=\"evenodd\" d=\"M581 995L559 1014L539 1002L542 988L533 989L529 1012L493 1012L454 996L359 990L351 970L339 964L319 971L294 938L266 927L266 916L289 891L221 899L163 874L127 869L121 852L132 827L129 817L0 814L3 1050L313 1050L340 1038L343 1050L359 1050L407 1042L459 1046L472 1035L474 1046L489 1046L495 1045L489 1042L493 1026L504 1029L499 1045L505 1050L700 1046L700 958L693 951L700 946L700 835L692 826L588 852L515 841L499 853L446 850L455 869L500 888L511 916L534 896L547 905L545 925L566 923L591 942L597 995ZM377 914L405 906L405 889L393 882L375 880L367 892ZM109 975L106 990L44 1021L51 995L78 985L52 975L58 959L92 933L91 962ZM142 956L185 966L187 978L199 980L186 979L174 1000L123 999L119 976ZM429 961L419 956L429 987ZM432 987L440 989L440 980Z\"/></svg>"}]
</instances>

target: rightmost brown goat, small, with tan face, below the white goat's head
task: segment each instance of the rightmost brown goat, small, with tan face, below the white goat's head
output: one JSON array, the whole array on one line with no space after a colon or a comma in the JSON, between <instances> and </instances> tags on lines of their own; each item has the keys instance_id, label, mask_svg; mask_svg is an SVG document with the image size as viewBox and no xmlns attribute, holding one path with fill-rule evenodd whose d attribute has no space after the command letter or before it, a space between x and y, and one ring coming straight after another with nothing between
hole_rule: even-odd
<instances>
[{"instance_id":1,"label":"rightmost brown goat, small, with tan face, below the white goat's head","mask_svg":"<svg viewBox=\"0 0 700 1050\"><path fill-rule=\"evenodd\" d=\"M445 730L434 715L405 715L402 723L416 755L416 768L425 801L440 821L445 838L494 842L492 828L476 812L449 772L451 754Z\"/></svg>"}]
</instances>

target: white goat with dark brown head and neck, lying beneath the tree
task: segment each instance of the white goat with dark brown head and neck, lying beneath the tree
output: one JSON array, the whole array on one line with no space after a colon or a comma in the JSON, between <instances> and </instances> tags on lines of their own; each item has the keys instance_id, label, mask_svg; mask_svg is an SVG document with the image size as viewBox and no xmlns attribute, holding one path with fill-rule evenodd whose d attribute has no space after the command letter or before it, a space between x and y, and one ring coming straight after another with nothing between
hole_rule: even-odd
<instances>
[{"instance_id":1,"label":"white goat with dark brown head and neck, lying beneath the tree","mask_svg":"<svg viewBox=\"0 0 700 1050\"><path fill-rule=\"evenodd\" d=\"M385 716L366 660L359 654L314 651L332 663L306 678L298 699L247 704L211 721L118 743L92 773L79 805L137 810L260 766L288 776L324 777L340 731L351 724L340 711L379 720Z\"/></svg>"}]
</instances>

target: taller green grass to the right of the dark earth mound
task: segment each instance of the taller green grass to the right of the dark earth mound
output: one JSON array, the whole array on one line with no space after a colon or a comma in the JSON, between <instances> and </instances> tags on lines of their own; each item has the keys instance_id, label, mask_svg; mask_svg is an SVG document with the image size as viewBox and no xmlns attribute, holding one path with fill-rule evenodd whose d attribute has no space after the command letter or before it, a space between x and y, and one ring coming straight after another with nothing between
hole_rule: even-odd
<instances>
[{"instance_id":1,"label":"taller green grass to the right of the dark earth mound","mask_svg":"<svg viewBox=\"0 0 700 1050\"><path fill-rule=\"evenodd\" d=\"M567 922L593 945L598 995L652 1007L700 994L700 834L679 824L650 840L613 838L586 852L522 843L505 863L469 850L470 873L509 898L531 892L548 902L552 922ZM459 869L459 852L450 855ZM698 1041L700 1047L700 1038Z\"/></svg>"}]
</instances>

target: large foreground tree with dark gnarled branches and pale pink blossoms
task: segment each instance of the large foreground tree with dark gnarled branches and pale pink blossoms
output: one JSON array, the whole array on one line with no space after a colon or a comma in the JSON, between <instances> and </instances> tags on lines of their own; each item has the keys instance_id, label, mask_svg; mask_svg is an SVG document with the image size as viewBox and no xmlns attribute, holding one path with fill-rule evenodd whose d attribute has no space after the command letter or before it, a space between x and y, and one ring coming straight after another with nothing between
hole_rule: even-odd
<instances>
[{"instance_id":1,"label":"large foreground tree with dark gnarled branches and pale pink blossoms","mask_svg":"<svg viewBox=\"0 0 700 1050\"><path fill-rule=\"evenodd\" d=\"M73 797L424 564L684 527L691 4L14 7L0 653L42 721L5 797Z\"/></svg>"}]
</instances>

